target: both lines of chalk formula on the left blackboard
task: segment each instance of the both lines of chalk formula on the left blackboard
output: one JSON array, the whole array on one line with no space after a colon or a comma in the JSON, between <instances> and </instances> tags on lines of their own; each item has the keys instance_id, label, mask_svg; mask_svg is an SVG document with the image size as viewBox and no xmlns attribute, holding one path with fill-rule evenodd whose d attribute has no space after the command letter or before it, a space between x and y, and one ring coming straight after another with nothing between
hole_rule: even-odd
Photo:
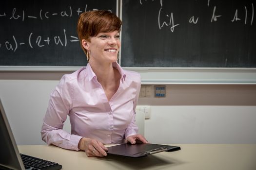
<instances>
[{"instance_id":1,"label":"both lines of chalk formula on the left blackboard","mask_svg":"<svg viewBox=\"0 0 256 170\"><path fill-rule=\"evenodd\" d=\"M44 19L56 19L56 17L76 17L82 13L86 12L88 9L88 5L86 4L84 9L81 8L74 9L71 6L68 6L66 9L60 11L60 12L49 12L44 9L40 9L38 12L36 11L36 14L31 15L27 14L25 10L18 10L17 8L13 8L11 12L9 11L3 11L0 13L0 21L1 19L9 19L13 20L15 24L15 20L21 20L24 22L25 20L44 20ZM92 10L98 10L96 8L93 8ZM111 10L109 10L111 12ZM53 18L54 17L54 18ZM75 26L75 25L74 25ZM28 33L27 35L24 35L22 40L19 40L15 35L11 35L10 40L6 40L4 42L0 42L0 48L5 48L8 51L17 51L18 47L22 47L25 45L28 45L31 49L33 47L45 47L49 46L51 44L54 45L60 45L63 47L66 47L68 43L72 42L78 42L79 39L77 37L76 32L73 33L74 35L70 35L67 37L66 29L63 28L61 30L62 35L52 35L50 36L42 36L38 34L34 34L33 32Z\"/></svg>"}]
</instances>

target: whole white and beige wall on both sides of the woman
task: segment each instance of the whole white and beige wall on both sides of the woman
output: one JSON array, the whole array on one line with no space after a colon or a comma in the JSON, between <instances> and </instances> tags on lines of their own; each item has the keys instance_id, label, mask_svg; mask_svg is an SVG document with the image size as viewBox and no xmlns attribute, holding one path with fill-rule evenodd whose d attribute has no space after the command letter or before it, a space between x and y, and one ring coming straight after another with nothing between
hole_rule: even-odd
<instances>
[{"instance_id":1,"label":"whole white and beige wall on both sides of the woman","mask_svg":"<svg viewBox=\"0 0 256 170\"><path fill-rule=\"evenodd\" d=\"M45 144L42 119L64 73L0 72L0 99L18 144ZM166 93L138 102L151 106L150 142L256 143L256 85L167 85Z\"/></svg>"}]
</instances>

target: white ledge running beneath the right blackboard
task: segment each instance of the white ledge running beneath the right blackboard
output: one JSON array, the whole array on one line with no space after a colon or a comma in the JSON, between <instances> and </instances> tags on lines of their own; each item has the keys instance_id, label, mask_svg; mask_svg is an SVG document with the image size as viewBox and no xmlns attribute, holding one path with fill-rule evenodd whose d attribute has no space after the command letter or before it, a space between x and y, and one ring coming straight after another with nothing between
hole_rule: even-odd
<instances>
[{"instance_id":1,"label":"white ledge running beneath the right blackboard","mask_svg":"<svg viewBox=\"0 0 256 170\"><path fill-rule=\"evenodd\" d=\"M256 68L125 68L144 85L256 85Z\"/></svg>"}]
</instances>

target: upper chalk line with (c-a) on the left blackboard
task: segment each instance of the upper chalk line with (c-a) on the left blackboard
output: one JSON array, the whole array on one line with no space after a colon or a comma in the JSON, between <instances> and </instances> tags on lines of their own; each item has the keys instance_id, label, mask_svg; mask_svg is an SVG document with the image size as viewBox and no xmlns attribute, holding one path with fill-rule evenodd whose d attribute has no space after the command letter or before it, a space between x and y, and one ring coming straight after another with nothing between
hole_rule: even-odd
<instances>
[{"instance_id":1,"label":"upper chalk line with (c-a) on the left blackboard","mask_svg":"<svg viewBox=\"0 0 256 170\"><path fill-rule=\"evenodd\" d=\"M92 9L93 11L98 10L96 8ZM25 19L50 19L51 17L72 17L72 16L79 16L81 13L88 11L88 5L86 4L84 8L77 8L74 9L72 6L66 7L66 9L60 10L59 12L49 12L44 9L40 9L36 14L30 14L23 9L13 8L10 12L0 11L0 19L7 18L7 19L21 19L24 21ZM110 9L108 10L112 12Z\"/></svg>"}]
</instances>

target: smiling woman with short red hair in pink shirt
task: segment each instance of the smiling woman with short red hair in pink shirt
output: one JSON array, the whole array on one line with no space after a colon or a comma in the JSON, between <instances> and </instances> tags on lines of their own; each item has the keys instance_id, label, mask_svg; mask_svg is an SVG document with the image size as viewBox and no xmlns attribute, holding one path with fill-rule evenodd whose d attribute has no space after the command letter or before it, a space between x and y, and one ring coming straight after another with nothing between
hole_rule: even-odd
<instances>
[{"instance_id":1,"label":"smiling woman with short red hair in pink shirt","mask_svg":"<svg viewBox=\"0 0 256 170\"><path fill-rule=\"evenodd\" d=\"M88 64L64 75L51 93L41 130L47 144L106 156L103 144L147 143L135 124L140 76L117 63L121 24L108 11L79 16L77 30ZM62 130L67 115L71 134Z\"/></svg>"}]
</instances>

